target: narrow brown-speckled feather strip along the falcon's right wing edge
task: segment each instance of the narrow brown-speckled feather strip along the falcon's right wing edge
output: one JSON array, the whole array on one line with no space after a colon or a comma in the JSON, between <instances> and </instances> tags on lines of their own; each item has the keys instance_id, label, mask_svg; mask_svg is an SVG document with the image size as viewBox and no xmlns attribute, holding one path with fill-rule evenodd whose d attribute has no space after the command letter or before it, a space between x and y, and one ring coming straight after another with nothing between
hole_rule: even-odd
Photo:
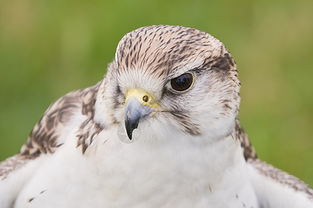
<instances>
[{"instance_id":1,"label":"narrow brown-speckled feather strip along the falcon's right wing edge","mask_svg":"<svg viewBox=\"0 0 313 208\"><path fill-rule=\"evenodd\" d=\"M289 175L288 173L281 171L266 162L262 162L260 159L248 158L247 162L262 175L270 177L276 182L284 184L287 187L291 187L296 191L306 193L307 197L310 198L310 200L313 200L313 190L307 187L307 184L299 180L297 177Z\"/></svg>"}]
</instances>

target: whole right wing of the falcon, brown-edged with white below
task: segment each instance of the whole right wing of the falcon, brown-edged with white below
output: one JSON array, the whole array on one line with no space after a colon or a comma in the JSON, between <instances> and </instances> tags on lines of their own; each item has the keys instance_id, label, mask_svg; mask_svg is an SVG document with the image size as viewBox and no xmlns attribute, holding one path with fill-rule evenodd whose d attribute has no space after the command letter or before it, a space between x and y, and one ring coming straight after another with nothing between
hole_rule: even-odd
<instances>
[{"instance_id":1,"label":"whole right wing of the falcon, brown-edged with white below","mask_svg":"<svg viewBox=\"0 0 313 208\"><path fill-rule=\"evenodd\" d=\"M242 145L242 153L248 164L251 182L257 193L260 207L312 207L313 190L297 177L257 159L248 136L237 119L235 137Z\"/></svg>"}]
</instances>

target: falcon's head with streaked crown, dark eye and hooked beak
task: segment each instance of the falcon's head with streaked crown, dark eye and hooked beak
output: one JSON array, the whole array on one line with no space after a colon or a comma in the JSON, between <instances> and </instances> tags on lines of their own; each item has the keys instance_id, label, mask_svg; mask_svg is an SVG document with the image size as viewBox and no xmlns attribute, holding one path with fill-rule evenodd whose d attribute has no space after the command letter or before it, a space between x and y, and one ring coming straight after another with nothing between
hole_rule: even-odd
<instances>
[{"instance_id":1,"label":"falcon's head with streaked crown, dark eye and hooked beak","mask_svg":"<svg viewBox=\"0 0 313 208\"><path fill-rule=\"evenodd\" d=\"M125 123L129 139L169 132L219 139L235 127L239 88L222 42L183 26L146 26L126 34L99 89L94 119ZM178 135L179 137L179 135Z\"/></svg>"}]
</instances>

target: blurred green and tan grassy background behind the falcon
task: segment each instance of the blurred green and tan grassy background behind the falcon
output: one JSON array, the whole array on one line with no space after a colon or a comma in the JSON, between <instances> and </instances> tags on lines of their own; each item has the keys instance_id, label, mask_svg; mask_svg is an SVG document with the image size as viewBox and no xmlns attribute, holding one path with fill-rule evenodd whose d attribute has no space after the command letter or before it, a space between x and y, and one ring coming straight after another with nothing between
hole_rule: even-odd
<instances>
[{"instance_id":1,"label":"blurred green and tan grassy background behind the falcon","mask_svg":"<svg viewBox=\"0 0 313 208\"><path fill-rule=\"evenodd\" d=\"M240 119L258 156L313 187L313 1L0 1L0 160L49 104L101 80L124 34L198 28L242 81Z\"/></svg>"}]
</instances>

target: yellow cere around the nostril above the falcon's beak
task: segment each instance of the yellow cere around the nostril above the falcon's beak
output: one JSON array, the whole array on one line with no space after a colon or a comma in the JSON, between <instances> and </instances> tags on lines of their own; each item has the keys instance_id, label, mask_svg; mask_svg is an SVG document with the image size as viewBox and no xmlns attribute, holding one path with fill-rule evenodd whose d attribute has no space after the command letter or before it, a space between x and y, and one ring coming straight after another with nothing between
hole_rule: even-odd
<instances>
[{"instance_id":1,"label":"yellow cere around the nostril above the falcon's beak","mask_svg":"<svg viewBox=\"0 0 313 208\"><path fill-rule=\"evenodd\" d=\"M145 96L147 96L148 99L146 99ZM127 103L127 101L130 98L136 98L140 104L150 106L153 109L156 109L159 106L158 101L156 101L155 98L153 98L153 96L151 96L149 92L146 92L143 89L138 89L138 88L129 89L126 93L125 103ZM145 102L144 100L145 101L148 100L148 101Z\"/></svg>"}]
</instances>

